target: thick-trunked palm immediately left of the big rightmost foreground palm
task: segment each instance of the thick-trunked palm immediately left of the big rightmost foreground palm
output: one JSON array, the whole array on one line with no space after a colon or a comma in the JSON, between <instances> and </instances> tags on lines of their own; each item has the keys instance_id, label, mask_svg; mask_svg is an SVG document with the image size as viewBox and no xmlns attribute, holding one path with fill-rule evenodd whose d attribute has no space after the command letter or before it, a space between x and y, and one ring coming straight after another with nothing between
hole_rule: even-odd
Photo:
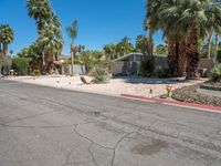
<instances>
[{"instance_id":1,"label":"thick-trunked palm immediately left of the big rightmost foreground palm","mask_svg":"<svg viewBox=\"0 0 221 166\"><path fill-rule=\"evenodd\" d=\"M179 9L177 1L165 0L157 2L159 3L158 9L156 9L158 13L157 28L164 31L164 37L168 41L170 74L173 76L185 76L187 66L187 58L185 54L186 37L176 23L180 19L182 11Z\"/></svg>"}]
</instances>

